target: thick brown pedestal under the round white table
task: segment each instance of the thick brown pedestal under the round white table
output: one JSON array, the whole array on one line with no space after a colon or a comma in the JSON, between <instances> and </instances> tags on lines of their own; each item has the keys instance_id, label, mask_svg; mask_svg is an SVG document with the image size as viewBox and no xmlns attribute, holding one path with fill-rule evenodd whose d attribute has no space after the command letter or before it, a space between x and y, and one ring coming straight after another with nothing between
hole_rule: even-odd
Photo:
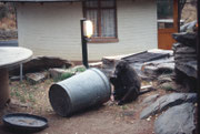
<instances>
[{"instance_id":1,"label":"thick brown pedestal under the round white table","mask_svg":"<svg viewBox=\"0 0 200 134\"><path fill-rule=\"evenodd\" d=\"M9 102L9 73L7 69L0 69L0 109Z\"/></svg>"}]
</instances>

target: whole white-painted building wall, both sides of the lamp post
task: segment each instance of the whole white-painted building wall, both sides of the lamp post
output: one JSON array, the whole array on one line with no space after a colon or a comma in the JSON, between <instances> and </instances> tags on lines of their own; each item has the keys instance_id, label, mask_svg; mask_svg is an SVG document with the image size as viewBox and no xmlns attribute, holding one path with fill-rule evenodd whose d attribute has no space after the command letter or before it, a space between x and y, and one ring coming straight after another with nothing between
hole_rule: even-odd
<instances>
[{"instance_id":1,"label":"whole white-painted building wall, both sides of the lamp post","mask_svg":"<svg viewBox=\"0 0 200 134\"><path fill-rule=\"evenodd\" d=\"M89 60L157 48L156 0L119 0L117 14L119 42L89 43ZM34 55L80 61L81 18L81 2L19 3L19 45L33 50Z\"/></svg>"}]
</instances>

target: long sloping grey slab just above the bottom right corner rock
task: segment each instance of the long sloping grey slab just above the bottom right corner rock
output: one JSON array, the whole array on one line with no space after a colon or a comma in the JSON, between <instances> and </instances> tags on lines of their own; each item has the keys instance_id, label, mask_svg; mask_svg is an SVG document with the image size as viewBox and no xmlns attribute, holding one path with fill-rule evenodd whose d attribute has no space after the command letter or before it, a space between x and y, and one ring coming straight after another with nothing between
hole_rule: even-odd
<instances>
[{"instance_id":1,"label":"long sloping grey slab just above the bottom right corner rock","mask_svg":"<svg viewBox=\"0 0 200 134\"><path fill-rule=\"evenodd\" d=\"M159 97L154 103L146 107L141 114L140 118L147 118L150 115L154 115L168 107L179 105L186 102L197 102L196 93L171 93Z\"/></svg>"}]
</instances>

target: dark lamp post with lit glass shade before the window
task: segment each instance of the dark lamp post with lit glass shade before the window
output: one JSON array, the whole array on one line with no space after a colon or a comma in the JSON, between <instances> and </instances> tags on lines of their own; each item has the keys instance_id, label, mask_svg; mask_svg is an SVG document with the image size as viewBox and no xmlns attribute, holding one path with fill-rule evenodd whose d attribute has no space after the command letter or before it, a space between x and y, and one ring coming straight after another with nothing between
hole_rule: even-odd
<instances>
[{"instance_id":1,"label":"dark lamp post with lit glass shade before the window","mask_svg":"<svg viewBox=\"0 0 200 134\"><path fill-rule=\"evenodd\" d=\"M90 20L81 19L81 42L82 42L82 63L88 69L88 48L87 42L93 33L92 22Z\"/></svg>"}]
</instances>

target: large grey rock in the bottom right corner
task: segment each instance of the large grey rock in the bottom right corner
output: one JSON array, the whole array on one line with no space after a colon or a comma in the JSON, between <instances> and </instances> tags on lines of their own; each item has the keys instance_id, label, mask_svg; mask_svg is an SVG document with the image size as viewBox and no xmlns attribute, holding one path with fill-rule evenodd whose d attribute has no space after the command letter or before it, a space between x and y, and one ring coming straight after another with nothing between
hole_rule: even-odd
<instances>
[{"instance_id":1,"label":"large grey rock in the bottom right corner","mask_svg":"<svg viewBox=\"0 0 200 134\"><path fill-rule=\"evenodd\" d=\"M194 130L194 105L192 103L170 107L154 122L156 134L193 134Z\"/></svg>"}]
</instances>

